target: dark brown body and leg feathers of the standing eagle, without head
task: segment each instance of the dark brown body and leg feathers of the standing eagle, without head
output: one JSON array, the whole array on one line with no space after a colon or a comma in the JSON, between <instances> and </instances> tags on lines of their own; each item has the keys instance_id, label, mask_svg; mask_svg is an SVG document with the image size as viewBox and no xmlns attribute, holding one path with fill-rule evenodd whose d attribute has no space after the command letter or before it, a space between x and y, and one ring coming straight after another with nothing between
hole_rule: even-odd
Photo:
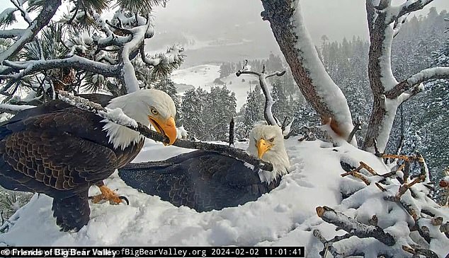
<instances>
[{"instance_id":1,"label":"dark brown body and leg feathers of the standing eagle, without head","mask_svg":"<svg viewBox=\"0 0 449 258\"><path fill-rule=\"evenodd\" d=\"M108 95L84 95L103 106ZM62 230L89 221L89 187L137 156L144 140L126 148L108 142L102 117L60 100L23 110L0 124L0 184L53 197Z\"/></svg>"}]
</instances>

